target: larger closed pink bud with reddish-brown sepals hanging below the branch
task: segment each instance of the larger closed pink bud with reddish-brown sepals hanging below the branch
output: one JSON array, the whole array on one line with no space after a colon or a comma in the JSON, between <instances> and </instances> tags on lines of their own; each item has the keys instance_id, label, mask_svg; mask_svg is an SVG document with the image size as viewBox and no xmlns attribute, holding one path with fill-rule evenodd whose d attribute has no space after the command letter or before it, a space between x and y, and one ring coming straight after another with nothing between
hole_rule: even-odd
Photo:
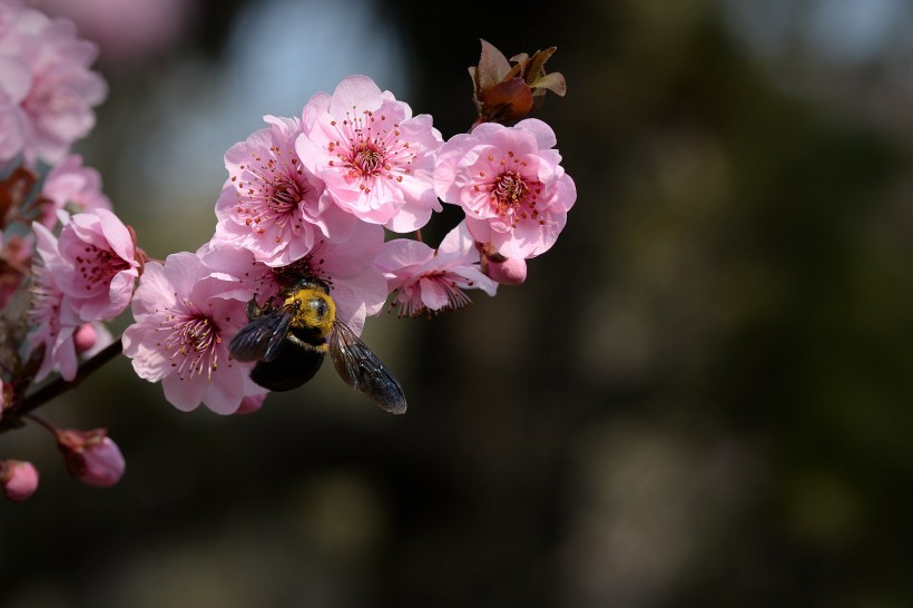
<instances>
[{"instance_id":1,"label":"larger closed pink bud with reddish-brown sepals hanging below the branch","mask_svg":"<svg viewBox=\"0 0 913 608\"><path fill-rule=\"evenodd\" d=\"M110 488L124 474L124 455L105 429L57 431L57 445L67 471L84 483Z\"/></svg>"}]
</instances>

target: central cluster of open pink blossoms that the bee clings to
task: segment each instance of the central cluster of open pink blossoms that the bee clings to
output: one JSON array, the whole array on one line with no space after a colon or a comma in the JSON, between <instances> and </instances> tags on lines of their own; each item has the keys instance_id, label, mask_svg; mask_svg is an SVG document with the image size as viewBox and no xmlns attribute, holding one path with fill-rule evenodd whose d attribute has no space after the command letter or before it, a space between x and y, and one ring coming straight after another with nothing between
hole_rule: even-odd
<instances>
[{"instance_id":1,"label":"central cluster of open pink blossoms that the bee clings to","mask_svg":"<svg viewBox=\"0 0 913 608\"><path fill-rule=\"evenodd\" d=\"M301 117L264 120L225 154L210 241L146 264L132 301L124 353L179 409L262 403L252 364L233 361L227 345L246 303L277 296L284 273L328 285L337 317L356 332L387 298L408 316L460 308L469 290L494 295L499 280L522 281L526 259L554 244L576 198L541 120L487 122L444 141L430 116L366 76L313 96ZM423 228L441 202L465 218L438 247L384 241Z\"/></svg>"}]
</instances>

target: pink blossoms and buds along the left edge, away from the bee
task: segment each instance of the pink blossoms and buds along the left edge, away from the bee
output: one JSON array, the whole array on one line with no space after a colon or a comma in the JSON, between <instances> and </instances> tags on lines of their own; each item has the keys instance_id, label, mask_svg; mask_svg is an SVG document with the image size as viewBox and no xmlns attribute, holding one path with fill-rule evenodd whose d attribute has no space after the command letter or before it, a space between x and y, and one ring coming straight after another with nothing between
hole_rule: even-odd
<instances>
[{"instance_id":1,"label":"pink blossoms and buds along the left edge, away from the bee","mask_svg":"<svg viewBox=\"0 0 913 608\"><path fill-rule=\"evenodd\" d=\"M125 461L107 432L57 429L26 399L52 373L75 381L80 357L112 343L105 322L129 306L143 265L100 174L71 154L107 95L89 69L97 55L70 21L0 0L0 431L29 418L51 431L73 477L108 487ZM10 500L38 479L31 463L0 460Z\"/></svg>"}]
</instances>

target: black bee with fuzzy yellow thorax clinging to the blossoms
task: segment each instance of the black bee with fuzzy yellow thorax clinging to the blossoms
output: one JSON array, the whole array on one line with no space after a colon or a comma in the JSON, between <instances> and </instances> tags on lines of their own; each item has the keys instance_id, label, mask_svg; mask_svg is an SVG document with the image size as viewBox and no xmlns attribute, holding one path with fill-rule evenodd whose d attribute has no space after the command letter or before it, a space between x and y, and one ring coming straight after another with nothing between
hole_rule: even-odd
<instances>
[{"instance_id":1,"label":"black bee with fuzzy yellow thorax clinging to the blossoms","mask_svg":"<svg viewBox=\"0 0 913 608\"><path fill-rule=\"evenodd\" d=\"M336 373L383 410L405 412L396 377L355 332L336 317L330 288L314 277L296 277L279 292L281 306L247 304L249 323L228 344L238 361L256 361L251 380L271 391L297 389L317 373L328 352Z\"/></svg>"}]
</instances>

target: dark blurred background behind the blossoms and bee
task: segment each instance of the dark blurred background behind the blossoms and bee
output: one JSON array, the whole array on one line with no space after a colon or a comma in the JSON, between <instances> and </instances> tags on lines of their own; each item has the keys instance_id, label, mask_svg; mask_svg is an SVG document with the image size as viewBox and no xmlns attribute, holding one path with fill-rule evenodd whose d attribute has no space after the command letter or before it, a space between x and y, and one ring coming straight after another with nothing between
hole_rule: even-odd
<instances>
[{"instance_id":1,"label":"dark blurred background behind the blossoms and bee","mask_svg":"<svg viewBox=\"0 0 913 608\"><path fill-rule=\"evenodd\" d=\"M558 46L579 197L524 285L369 323L405 416L331 367L185 414L120 359L43 408L109 429L116 488L2 437L42 483L0 504L0 605L913 606L909 2L32 3L101 47L77 151L153 256L350 73L465 130L479 38Z\"/></svg>"}]
</instances>

